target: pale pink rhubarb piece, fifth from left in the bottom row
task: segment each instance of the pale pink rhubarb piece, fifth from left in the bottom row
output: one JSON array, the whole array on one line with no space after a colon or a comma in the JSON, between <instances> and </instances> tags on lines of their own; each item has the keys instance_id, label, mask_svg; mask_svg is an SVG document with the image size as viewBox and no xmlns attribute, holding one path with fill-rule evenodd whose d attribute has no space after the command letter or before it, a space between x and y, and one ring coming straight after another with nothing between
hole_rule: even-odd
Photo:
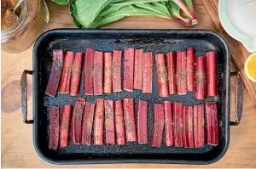
<instances>
[{"instance_id":1,"label":"pale pink rhubarb piece, fifth from left in the bottom row","mask_svg":"<svg viewBox=\"0 0 256 169\"><path fill-rule=\"evenodd\" d=\"M104 129L104 99L96 99L95 117L94 117L94 144L103 145L103 129Z\"/></svg>"}]
</instances>

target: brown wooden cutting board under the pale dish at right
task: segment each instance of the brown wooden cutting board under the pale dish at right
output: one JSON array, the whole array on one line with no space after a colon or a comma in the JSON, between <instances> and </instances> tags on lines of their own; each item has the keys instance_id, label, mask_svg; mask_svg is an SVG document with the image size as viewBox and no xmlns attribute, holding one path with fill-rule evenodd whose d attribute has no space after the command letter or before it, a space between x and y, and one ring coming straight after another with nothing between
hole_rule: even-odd
<instances>
[{"instance_id":1,"label":"brown wooden cutting board under the pale dish at right","mask_svg":"<svg viewBox=\"0 0 256 169\"><path fill-rule=\"evenodd\" d=\"M226 41L229 43L231 59L236 66L236 69L240 71L241 76L243 78L243 82L249 91L251 98L253 99L253 103L256 104L256 83L251 82L244 71L243 65L247 59L247 56L250 54L243 47L241 42L236 41L232 37L230 37L224 28L222 27L220 20L218 18L218 0L202 0L204 5L206 6L209 15L212 18L212 21L215 25L215 30L224 36ZM256 65L255 65L256 66Z\"/></svg>"}]
</instances>

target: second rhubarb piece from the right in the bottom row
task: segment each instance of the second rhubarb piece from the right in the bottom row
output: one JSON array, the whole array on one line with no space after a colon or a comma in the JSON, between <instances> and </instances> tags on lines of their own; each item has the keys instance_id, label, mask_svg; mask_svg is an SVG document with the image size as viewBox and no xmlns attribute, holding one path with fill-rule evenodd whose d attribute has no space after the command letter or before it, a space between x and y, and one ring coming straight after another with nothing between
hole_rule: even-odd
<instances>
[{"instance_id":1,"label":"second rhubarb piece from the right in the bottom row","mask_svg":"<svg viewBox=\"0 0 256 169\"><path fill-rule=\"evenodd\" d=\"M194 139L195 148L205 146L205 122L204 122L204 105L194 105Z\"/></svg>"}]
</instances>

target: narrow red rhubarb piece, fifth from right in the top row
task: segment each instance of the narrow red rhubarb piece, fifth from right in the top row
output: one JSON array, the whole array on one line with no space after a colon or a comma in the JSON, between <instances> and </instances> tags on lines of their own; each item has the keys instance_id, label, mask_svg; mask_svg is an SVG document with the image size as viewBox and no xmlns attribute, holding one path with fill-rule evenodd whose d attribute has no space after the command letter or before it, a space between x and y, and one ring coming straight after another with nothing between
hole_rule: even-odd
<instances>
[{"instance_id":1,"label":"narrow red rhubarb piece, fifth from right in the top row","mask_svg":"<svg viewBox=\"0 0 256 169\"><path fill-rule=\"evenodd\" d=\"M175 52L170 52L167 54L167 70L168 70L168 80L169 80L169 93L177 93L176 84L176 72L175 72Z\"/></svg>"}]
</instances>

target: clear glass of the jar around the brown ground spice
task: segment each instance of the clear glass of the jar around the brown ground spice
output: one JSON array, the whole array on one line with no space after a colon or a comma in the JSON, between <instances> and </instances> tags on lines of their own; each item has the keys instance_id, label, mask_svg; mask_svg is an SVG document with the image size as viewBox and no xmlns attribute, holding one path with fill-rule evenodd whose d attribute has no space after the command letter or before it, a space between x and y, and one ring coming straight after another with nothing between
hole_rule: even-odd
<instances>
[{"instance_id":1,"label":"clear glass of the jar around the brown ground spice","mask_svg":"<svg viewBox=\"0 0 256 169\"><path fill-rule=\"evenodd\" d=\"M25 50L43 33L48 22L49 10L44 0L24 0L15 24L1 30L2 50L12 54Z\"/></svg>"}]
</instances>

